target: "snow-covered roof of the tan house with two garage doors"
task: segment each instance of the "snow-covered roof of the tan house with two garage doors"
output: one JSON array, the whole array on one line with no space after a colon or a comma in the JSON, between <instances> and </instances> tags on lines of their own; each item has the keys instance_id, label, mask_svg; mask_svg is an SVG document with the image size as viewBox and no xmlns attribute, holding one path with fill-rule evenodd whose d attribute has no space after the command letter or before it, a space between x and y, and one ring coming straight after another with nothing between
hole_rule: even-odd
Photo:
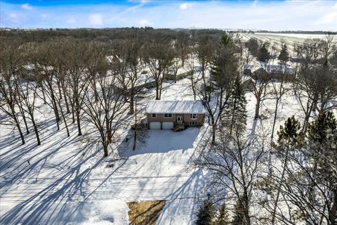
<instances>
[{"instance_id":1,"label":"snow-covered roof of the tan house with two garage doors","mask_svg":"<svg viewBox=\"0 0 337 225\"><path fill-rule=\"evenodd\" d=\"M147 103L146 113L205 113L201 101L161 101Z\"/></svg>"}]
</instances>

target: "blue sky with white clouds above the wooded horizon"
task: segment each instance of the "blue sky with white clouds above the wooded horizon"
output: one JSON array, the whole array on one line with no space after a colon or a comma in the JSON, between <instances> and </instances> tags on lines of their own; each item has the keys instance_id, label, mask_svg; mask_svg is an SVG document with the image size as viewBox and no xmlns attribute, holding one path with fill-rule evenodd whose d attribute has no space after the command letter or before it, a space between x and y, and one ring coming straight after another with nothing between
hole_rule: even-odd
<instances>
[{"instance_id":1,"label":"blue sky with white clouds above the wooded horizon","mask_svg":"<svg viewBox=\"0 0 337 225\"><path fill-rule=\"evenodd\" d=\"M337 31L337 1L0 0L0 27Z\"/></svg>"}]
</instances>

